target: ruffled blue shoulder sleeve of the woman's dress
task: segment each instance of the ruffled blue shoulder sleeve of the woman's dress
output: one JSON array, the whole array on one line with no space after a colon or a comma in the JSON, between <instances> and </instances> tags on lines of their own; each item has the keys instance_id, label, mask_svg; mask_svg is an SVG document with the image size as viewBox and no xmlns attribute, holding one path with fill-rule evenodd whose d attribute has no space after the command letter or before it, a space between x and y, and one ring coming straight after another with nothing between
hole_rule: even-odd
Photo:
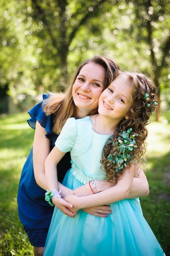
<instances>
[{"instance_id":1,"label":"ruffled blue shoulder sleeve of the woman's dress","mask_svg":"<svg viewBox=\"0 0 170 256\"><path fill-rule=\"evenodd\" d=\"M33 108L31 108L31 110L28 111L29 115L30 115L30 119L27 120L29 126L31 126L31 128L35 129L35 124L36 121L38 121L40 123L40 125L45 128L46 130L46 137L51 139L51 136L53 137L54 133L52 132L52 128L53 128L53 115L50 116L46 116L46 114L43 111L43 107L42 107L42 103L44 100L49 98L49 94L43 94L42 96L42 101L38 104L36 104ZM55 140L55 138L52 139Z\"/></svg>"}]
</instances>

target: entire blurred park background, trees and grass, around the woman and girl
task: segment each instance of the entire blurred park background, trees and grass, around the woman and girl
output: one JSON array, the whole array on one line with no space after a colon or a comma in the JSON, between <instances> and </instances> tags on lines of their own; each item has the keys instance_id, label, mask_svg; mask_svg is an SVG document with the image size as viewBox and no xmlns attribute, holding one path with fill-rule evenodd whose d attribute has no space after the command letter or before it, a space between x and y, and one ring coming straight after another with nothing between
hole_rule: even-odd
<instances>
[{"instance_id":1,"label":"entire blurred park background, trees and grass, around the woman and girl","mask_svg":"<svg viewBox=\"0 0 170 256\"><path fill-rule=\"evenodd\" d=\"M0 13L0 256L33 255L17 211L34 134L26 112L43 93L64 90L95 55L157 85L158 109L148 126L150 195L141 205L170 256L169 0L1 0Z\"/></svg>"}]
</instances>

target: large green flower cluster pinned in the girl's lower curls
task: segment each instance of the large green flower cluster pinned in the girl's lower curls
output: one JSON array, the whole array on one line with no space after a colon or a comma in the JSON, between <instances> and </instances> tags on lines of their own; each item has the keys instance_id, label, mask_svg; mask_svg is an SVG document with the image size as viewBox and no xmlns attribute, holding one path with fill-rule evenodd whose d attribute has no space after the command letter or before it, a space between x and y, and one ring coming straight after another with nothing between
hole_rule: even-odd
<instances>
[{"instance_id":1,"label":"large green flower cluster pinned in the girl's lower curls","mask_svg":"<svg viewBox=\"0 0 170 256\"><path fill-rule=\"evenodd\" d=\"M132 151L136 148L135 136L138 136L137 133L133 133L132 128L127 131L123 131L118 140L115 141L115 147L117 148L117 153L109 154L108 159L113 161L114 164L117 164L115 172L119 172L121 169L127 166L127 162L132 159Z\"/></svg>"}]
</instances>

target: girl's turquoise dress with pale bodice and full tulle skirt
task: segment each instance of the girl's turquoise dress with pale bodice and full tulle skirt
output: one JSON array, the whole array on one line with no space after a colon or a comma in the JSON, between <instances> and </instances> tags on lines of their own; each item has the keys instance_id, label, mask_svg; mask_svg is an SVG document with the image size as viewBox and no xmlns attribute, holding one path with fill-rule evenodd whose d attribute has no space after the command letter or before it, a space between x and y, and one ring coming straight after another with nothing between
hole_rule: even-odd
<instances>
[{"instance_id":1,"label":"girl's turquoise dress with pale bodice and full tulle skirt","mask_svg":"<svg viewBox=\"0 0 170 256\"><path fill-rule=\"evenodd\" d=\"M55 145L71 151L71 169L63 184L75 189L91 179L105 179L100 171L102 150L110 135L93 131L90 117L68 119ZM146 222L139 198L110 205L112 214L100 218L79 210L75 218L55 207L44 256L163 256Z\"/></svg>"}]
</instances>

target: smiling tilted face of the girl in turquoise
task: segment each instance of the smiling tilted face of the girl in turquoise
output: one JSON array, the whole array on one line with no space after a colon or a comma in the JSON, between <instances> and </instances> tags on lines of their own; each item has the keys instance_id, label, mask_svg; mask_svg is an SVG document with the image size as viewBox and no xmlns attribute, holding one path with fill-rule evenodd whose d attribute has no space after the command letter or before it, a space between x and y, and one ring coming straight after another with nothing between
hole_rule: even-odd
<instances>
[{"instance_id":1,"label":"smiling tilted face of the girl in turquoise","mask_svg":"<svg viewBox=\"0 0 170 256\"><path fill-rule=\"evenodd\" d=\"M119 123L128 115L131 107L131 94L132 85L127 77L117 76L99 98L99 114Z\"/></svg>"}]
</instances>

